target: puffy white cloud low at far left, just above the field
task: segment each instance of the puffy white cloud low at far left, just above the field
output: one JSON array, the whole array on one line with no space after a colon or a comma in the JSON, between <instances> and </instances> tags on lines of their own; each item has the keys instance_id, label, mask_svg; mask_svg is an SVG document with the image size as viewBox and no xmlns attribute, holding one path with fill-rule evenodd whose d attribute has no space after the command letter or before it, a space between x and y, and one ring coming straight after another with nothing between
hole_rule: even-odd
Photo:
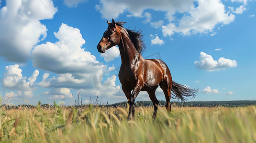
<instances>
[{"instance_id":1,"label":"puffy white cloud low at far left, just above the field","mask_svg":"<svg viewBox=\"0 0 256 143\"><path fill-rule=\"evenodd\" d=\"M38 70L35 70L32 76L28 79L27 77L23 77L22 69L19 68L18 64L6 66L5 70L6 72L3 74L2 87L18 91L17 94L14 94L13 92L12 97L33 96L33 91L36 89L34 83L39 74ZM11 95L11 92L8 92L7 94Z\"/></svg>"}]
</instances>

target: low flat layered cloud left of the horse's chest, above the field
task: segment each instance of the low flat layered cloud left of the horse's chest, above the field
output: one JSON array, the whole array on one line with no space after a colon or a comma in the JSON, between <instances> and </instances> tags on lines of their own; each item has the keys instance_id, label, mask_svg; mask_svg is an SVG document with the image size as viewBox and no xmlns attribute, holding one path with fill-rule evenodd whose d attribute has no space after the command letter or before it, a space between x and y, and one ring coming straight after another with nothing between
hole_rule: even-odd
<instances>
[{"instance_id":1,"label":"low flat layered cloud left of the horse's chest, above the field","mask_svg":"<svg viewBox=\"0 0 256 143\"><path fill-rule=\"evenodd\" d=\"M111 68L110 68L111 69ZM44 92L43 95L49 96L51 100L66 99L70 100L73 98L70 89L74 89L80 92L80 97L83 99L95 98L99 95L103 102L108 102L112 99L120 99L122 101L124 96L119 85L116 85L116 76L112 75L108 78L108 74L100 74L99 76L94 75L96 81L92 80L93 75L89 75L89 78L84 74L80 74L79 79L75 79L70 73L57 74L55 77L49 77L48 74L44 74L43 83L39 82L41 86L50 88L51 91ZM104 79L104 80L103 80ZM97 88L96 88L97 87ZM122 93L122 94L117 94ZM111 101L109 101L111 102Z\"/></svg>"}]
</instances>

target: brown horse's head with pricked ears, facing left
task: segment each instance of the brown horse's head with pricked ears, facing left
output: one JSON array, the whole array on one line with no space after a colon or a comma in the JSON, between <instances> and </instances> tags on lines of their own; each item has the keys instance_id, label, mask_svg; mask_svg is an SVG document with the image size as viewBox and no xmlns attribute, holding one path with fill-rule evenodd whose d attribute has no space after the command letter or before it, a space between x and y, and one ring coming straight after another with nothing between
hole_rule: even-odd
<instances>
[{"instance_id":1,"label":"brown horse's head with pricked ears, facing left","mask_svg":"<svg viewBox=\"0 0 256 143\"><path fill-rule=\"evenodd\" d=\"M112 23L108 20L107 22L109 24L108 29L104 32L103 37L97 45L97 49L100 53L105 53L106 50L118 45L121 39L120 27L115 24L113 19Z\"/></svg>"}]
</instances>

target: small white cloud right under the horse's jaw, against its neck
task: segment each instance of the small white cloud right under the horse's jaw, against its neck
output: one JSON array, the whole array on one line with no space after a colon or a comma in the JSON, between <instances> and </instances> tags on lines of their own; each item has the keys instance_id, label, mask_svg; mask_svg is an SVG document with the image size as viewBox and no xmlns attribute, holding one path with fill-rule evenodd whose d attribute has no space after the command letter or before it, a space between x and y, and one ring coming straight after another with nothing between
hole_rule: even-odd
<instances>
[{"instance_id":1,"label":"small white cloud right under the horse's jaw, against its neck","mask_svg":"<svg viewBox=\"0 0 256 143\"><path fill-rule=\"evenodd\" d=\"M117 46L113 46L108 49L105 53L101 53L100 56L104 58L105 61L109 62L119 57L120 51Z\"/></svg>"}]
</instances>

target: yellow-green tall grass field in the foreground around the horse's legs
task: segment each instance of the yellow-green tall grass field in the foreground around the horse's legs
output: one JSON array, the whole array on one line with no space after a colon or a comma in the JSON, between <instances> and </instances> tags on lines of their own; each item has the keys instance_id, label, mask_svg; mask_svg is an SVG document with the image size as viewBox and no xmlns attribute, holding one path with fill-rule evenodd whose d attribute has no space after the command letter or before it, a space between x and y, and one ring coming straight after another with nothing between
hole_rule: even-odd
<instances>
[{"instance_id":1,"label":"yellow-green tall grass field in the foreground around the horse's legs","mask_svg":"<svg viewBox=\"0 0 256 143\"><path fill-rule=\"evenodd\" d=\"M38 143L255 143L256 107L1 107L0 140Z\"/></svg>"}]
</instances>

